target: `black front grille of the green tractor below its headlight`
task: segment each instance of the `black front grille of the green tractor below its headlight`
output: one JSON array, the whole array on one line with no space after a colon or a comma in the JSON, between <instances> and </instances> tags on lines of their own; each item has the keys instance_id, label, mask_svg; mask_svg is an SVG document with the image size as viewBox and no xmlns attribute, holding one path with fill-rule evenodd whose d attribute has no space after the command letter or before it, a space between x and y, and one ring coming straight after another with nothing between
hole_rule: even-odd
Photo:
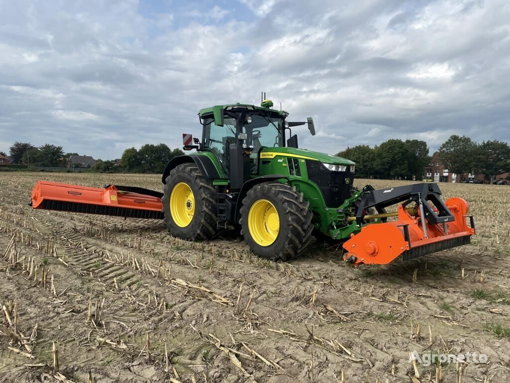
<instances>
[{"instance_id":1,"label":"black front grille of the green tractor below its headlight","mask_svg":"<svg viewBox=\"0 0 510 383\"><path fill-rule=\"evenodd\" d=\"M349 166L345 172L331 172L318 161L307 161L307 171L310 181L319 186L327 207L338 207L350 197L354 177Z\"/></svg>"}]
</instances>

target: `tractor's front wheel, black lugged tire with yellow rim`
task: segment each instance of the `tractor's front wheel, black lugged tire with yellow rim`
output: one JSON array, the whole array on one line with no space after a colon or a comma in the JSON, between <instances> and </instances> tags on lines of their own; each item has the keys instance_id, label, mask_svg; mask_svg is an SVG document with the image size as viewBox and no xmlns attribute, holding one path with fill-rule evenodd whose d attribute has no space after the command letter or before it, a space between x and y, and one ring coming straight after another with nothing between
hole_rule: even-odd
<instances>
[{"instance_id":1,"label":"tractor's front wheel, black lugged tire with yellow rim","mask_svg":"<svg viewBox=\"0 0 510 383\"><path fill-rule=\"evenodd\" d=\"M255 255L285 261L300 255L310 244L310 203L295 188L264 182L253 186L242 203L241 234Z\"/></svg>"}]
</instances>

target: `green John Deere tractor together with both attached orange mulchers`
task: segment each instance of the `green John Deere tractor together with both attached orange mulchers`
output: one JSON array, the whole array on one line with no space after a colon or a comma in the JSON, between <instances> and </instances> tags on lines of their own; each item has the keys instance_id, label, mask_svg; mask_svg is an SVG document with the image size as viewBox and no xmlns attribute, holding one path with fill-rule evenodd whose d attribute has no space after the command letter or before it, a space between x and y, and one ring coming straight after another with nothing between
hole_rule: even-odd
<instances>
[{"instance_id":1,"label":"green John Deere tractor together with both attached orange mulchers","mask_svg":"<svg viewBox=\"0 0 510 383\"><path fill-rule=\"evenodd\" d=\"M171 235L190 241L234 227L255 255L271 260L299 256L315 236L343 244L344 259L356 266L465 245L475 232L468 203L443 202L435 183L355 189L354 162L298 147L292 128L307 125L315 135L311 117L289 121L264 99L201 109L198 117L201 138L183 134L189 154L166 165L163 193L39 181L31 205L163 219Z\"/></svg>"}]
</instances>

